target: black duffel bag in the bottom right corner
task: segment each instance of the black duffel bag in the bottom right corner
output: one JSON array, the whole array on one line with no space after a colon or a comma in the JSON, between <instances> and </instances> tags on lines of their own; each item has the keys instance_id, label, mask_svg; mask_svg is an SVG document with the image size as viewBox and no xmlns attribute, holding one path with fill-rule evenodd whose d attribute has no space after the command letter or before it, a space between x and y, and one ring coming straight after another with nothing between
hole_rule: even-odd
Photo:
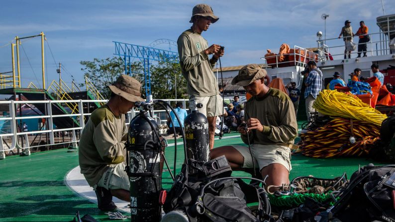
<instances>
[{"instance_id":1,"label":"black duffel bag in the bottom right corner","mask_svg":"<svg viewBox=\"0 0 395 222\"><path fill-rule=\"evenodd\" d=\"M341 221L395 221L395 165L361 167L330 212Z\"/></svg>"}]
</instances>

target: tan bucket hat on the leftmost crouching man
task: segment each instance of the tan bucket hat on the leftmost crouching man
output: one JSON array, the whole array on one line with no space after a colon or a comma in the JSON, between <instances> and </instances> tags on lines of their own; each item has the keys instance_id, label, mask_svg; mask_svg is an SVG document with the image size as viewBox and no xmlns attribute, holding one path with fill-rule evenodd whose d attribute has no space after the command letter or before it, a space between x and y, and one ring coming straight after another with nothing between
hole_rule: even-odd
<instances>
[{"instance_id":1,"label":"tan bucket hat on the leftmost crouching man","mask_svg":"<svg viewBox=\"0 0 395 222\"><path fill-rule=\"evenodd\" d=\"M141 98L141 83L129 75L120 75L108 88L130 102L144 101Z\"/></svg>"}]
</instances>

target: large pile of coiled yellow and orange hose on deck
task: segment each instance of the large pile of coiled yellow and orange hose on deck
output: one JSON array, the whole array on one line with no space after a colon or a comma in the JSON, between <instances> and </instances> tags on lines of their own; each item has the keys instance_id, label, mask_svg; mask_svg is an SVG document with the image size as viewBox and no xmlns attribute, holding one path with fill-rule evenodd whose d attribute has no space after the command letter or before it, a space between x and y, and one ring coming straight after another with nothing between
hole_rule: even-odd
<instances>
[{"instance_id":1,"label":"large pile of coiled yellow and orange hose on deck","mask_svg":"<svg viewBox=\"0 0 395 222\"><path fill-rule=\"evenodd\" d=\"M316 158L368 154L379 140L381 123L387 118L358 97L336 90L322 90L313 107L334 118L299 135L297 152Z\"/></svg>"}]
</instances>

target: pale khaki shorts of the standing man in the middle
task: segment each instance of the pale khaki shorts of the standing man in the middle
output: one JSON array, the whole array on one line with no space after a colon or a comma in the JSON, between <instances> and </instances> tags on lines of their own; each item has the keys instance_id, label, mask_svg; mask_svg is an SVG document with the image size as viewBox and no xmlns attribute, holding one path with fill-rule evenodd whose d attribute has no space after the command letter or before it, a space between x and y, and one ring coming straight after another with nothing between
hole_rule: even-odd
<instances>
[{"instance_id":1,"label":"pale khaki shorts of the standing man in the middle","mask_svg":"<svg viewBox=\"0 0 395 222\"><path fill-rule=\"evenodd\" d=\"M207 97L190 96L189 106L191 110L195 110L198 103L203 104L203 107L198 111L206 117L221 116L224 113L223 99L219 94Z\"/></svg>"}]
</instances>

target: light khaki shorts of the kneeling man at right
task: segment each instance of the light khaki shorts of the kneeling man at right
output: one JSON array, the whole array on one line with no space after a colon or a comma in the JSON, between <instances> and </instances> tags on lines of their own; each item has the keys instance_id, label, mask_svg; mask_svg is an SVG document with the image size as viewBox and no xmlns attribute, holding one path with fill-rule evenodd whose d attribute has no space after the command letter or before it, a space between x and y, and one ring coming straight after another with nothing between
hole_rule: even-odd
<instances>
[{"instance_id":1,"label":"light khaki shorts of the kneeling man at right","mask_svg":"<svg viewBox=\"0 0 395 222\"><path fill-rule=\"evenodd\" d=\"M248 147L232 146L244 157L243 168L252 168L252 159ZM255 167L259 166L259 170L272 163L280 163L288 171L292 170L291 166L291 149L281 145L251 145L252 156L254 157Z\"/></svg>"}]
</instances>

